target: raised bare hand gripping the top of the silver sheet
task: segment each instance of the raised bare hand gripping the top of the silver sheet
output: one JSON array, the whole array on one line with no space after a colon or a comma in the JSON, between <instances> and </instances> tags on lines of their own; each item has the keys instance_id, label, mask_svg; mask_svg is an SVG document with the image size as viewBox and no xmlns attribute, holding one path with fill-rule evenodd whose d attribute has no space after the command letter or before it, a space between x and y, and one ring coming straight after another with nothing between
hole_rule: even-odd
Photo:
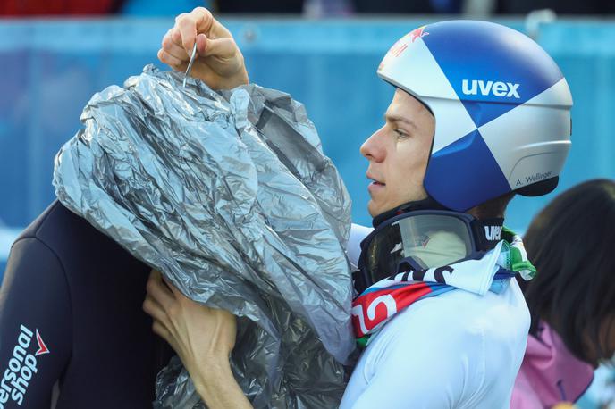
<instances>
[{"instance_id":1,"label":"raised bare hand gripping the top of the silver sheet","mask_svg":"<svg viewBox=\"0 0 615 409\"><path fill-rule=\"evenodd\" d=\"M203 80L212 89L232 89L248 84L243 55L231 32L204 7L175 18L173 29L164 35L158 59L175 71L185 71L195 41L198 57L192 66L193 77Z\"/></svg>"}]
</instances>

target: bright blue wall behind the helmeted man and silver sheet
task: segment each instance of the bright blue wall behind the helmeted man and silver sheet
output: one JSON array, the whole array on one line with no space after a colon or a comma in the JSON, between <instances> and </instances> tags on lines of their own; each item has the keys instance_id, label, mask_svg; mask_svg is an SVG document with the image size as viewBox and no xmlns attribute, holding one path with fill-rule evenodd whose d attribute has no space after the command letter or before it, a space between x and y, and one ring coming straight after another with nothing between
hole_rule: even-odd
<instances>
[{"instance_id":1,"label":"bright blue wall behind the helmeted man and silver sheet","mask_svg":"<svg viewBox=\"0 0 615 409\"><path fill-rule=\"evenodd\" d=\"M356 222L371 221L358 149L381 126L393 93L375 69L392 43L430 21L223 19L250 80L307 105L350 190ZM520 20L498 22L524 29ZM54 155L80 129L89 97L156 63L172 26L172 18L0 21L0 274L15 235L53 200ZM560 20L541 26L537 40L560 64L575 101L573 147L554 194L615 178L615 24ZM525 230L554 194L514 199L508 225Z\"/></svg>"}]
</instances>

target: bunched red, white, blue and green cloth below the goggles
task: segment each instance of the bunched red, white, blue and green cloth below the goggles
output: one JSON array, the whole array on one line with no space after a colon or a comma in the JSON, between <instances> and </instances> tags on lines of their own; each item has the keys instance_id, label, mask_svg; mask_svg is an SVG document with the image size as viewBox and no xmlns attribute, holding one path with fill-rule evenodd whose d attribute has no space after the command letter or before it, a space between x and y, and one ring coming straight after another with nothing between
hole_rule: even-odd
<instances>
[{"instance_id":1,"label":"bunched red, white, blue and green cloth below the goggles","mask_svg":"<svg viewBox=\"0 0 615 409\"><path fill-rule=\"evenodd\" d=\"M403 271L366 288L352 302L352 323L358 346L369 339L392 317L428 296L440 296L462 289L484 296L487 291L500 294L518 272L525 280L535 275L527 260L521 238L506 230L503 240L478 260L418 271Z\"/></svg>"}]
</instances>

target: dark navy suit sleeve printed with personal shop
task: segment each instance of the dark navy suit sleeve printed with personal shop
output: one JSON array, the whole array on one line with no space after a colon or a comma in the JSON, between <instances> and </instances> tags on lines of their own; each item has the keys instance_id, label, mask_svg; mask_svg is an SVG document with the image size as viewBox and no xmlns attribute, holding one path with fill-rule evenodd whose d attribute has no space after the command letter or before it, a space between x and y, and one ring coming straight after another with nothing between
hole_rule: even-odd
<instances>
[{"instance_id":1,"label":"dark navy suit sleeve printed with personal shop","mask_svg":"<svg viewBox=\"0 0 615 409\"><path fill-rule=\"evenodd\" d=\"M38 238L13 244L0 289L0 409L51 405L72 346L63 265Z\"/></svg>"}]
</instances>

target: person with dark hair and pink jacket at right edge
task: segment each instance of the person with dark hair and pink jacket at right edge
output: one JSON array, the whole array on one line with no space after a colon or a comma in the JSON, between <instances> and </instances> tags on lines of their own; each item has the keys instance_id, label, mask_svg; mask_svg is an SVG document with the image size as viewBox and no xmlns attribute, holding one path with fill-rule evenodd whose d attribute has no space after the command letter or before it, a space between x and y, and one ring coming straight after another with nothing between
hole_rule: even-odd
<instances>
[{"instance_id":1,"label":"person with dark hair and pink jacket at right edge","mask_svg":"<svg viewBox=\"0 0 615 409\"><path fill-rule=\"evenodd\" d=\"M518 280L532 317L511 408L575 402L594 368L615 353L615 181L594 179L557 196L524 242L534 280Z\"/></svg>"}]
</instances>

